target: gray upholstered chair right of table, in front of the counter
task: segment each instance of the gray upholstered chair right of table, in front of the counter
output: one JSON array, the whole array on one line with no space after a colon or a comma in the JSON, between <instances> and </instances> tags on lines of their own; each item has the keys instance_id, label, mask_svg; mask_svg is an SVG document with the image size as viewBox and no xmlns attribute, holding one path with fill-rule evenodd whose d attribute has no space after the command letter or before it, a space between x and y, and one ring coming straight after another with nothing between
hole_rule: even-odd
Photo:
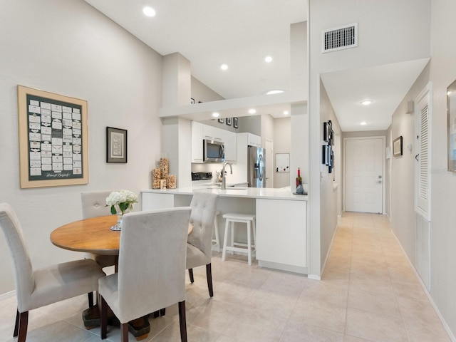
<instances>
[{"instance_id":1,"label":"gray upholstered chair right of table, in front of the counter","mask_svg":"<svg viewBox=\"0 0 456 342\"><path fill-rule=\"evenodd\" d=\"M190 207L192 215L190 223L193 224L192 233L188 236L187 243L187 269L190 281L193 283L193 268L206 265L207 288L209 296L214 296L212 289L212 230L214 217L217 212L219 196L204 192L195 192Z\"/></svg>"}]
</instances>

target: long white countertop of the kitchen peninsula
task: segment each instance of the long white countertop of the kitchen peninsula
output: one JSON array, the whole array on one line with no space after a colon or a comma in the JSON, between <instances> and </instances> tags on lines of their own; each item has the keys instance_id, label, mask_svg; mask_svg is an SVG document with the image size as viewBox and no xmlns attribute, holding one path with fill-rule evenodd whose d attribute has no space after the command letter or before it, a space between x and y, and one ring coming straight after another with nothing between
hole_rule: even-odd
<instances>
[{"instance_id":1,"label":"long white countertop of the kitchen peninsula","mask_svg":"<svg viewBox=\"0 0 456 342\"><path fill-rule=\"evenodd\" d=\"M271 187L233 187L232 189L222 190L219 187L180 187L177 189L147 189L142 192L152 192L155 194L170 195L193 195L194 192L214 193L222 197L247 197L260 199L286 199L294 201L306 201L307 195L294 195L290 187L279 189Z\"/></svg>"}]
</instances>

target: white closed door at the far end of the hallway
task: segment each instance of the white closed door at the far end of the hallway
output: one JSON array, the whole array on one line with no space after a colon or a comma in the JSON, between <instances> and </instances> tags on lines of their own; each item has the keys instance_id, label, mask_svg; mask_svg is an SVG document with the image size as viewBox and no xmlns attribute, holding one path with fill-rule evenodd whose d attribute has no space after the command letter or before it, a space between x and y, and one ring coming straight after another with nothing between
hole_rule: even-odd
<instances>
[{"instance_id":1,"label":"white closed door at the far end of the hallway","mask_svg":"<svg viewBox=\"0 0 456 342\"><path fill-rule=\"evenodd\" d=\"M348 212L383 212L383 138L346 140Z\"/></svg>"}]
</instances>

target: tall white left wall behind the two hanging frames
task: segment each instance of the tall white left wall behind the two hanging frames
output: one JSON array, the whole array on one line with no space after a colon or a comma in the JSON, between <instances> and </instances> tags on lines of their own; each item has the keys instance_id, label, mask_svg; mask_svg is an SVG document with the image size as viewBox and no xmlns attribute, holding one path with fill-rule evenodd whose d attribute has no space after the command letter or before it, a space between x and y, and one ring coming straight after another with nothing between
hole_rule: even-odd
<instances>
[{"instance_id":1,"label":"tall white left wall behind the two hanging frames","mask_svg":"<svg viewBox=\"0 0 456 342\"><path fill-rule=\"evenodd\" d=\"M0 46L0 202L16 210L33 267L81 258L54 247L49 234L81 219L83 191L150 187L162 57L84 1L2 1ZM88 100L88 185L19 188L18 84ZM105 162L106 126L128 130L127 164ZM0 294L14 289L2 236Z\"/></svg>"}]
</instances>

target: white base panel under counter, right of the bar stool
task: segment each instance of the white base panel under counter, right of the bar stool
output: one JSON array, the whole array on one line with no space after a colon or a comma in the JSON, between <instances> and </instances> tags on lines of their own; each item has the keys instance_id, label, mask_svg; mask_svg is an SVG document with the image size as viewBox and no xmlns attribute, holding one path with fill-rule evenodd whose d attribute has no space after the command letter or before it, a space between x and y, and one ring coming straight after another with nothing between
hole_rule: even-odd
<instances>
[{"instance_id":1,"label":"white base panel under counter, right of the bar stool","mask_svg":"<svg viewBox=\"0 0 456 342\"><path fill-rule=\"evenodd\" d=\"M306 204L304 201L257 199L255 244L259 266L307 273Z\"/></svg>"}]
</instances>

